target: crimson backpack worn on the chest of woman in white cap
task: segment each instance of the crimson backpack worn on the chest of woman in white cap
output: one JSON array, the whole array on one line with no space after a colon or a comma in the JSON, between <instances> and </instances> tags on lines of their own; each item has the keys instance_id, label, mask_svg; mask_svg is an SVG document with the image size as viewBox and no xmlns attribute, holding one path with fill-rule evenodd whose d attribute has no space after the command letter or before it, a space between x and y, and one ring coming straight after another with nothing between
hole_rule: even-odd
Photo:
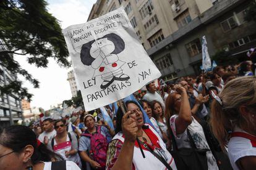
<instances>
[{"instance_id":1,"label":"crimson backpack worn on the chest of woman in white cap","mask_svg":"<svg viewBox=\"0 0 256 170\"><path fill-rule=\"evenodd\" d=\"M105 168L108 142L106 137L101 134L101 126L96 127L95 134L90 134L88 131L85 131L82 136L90 137L90 158L99 163L101 167Z\"/></svg>"}]
</instances>

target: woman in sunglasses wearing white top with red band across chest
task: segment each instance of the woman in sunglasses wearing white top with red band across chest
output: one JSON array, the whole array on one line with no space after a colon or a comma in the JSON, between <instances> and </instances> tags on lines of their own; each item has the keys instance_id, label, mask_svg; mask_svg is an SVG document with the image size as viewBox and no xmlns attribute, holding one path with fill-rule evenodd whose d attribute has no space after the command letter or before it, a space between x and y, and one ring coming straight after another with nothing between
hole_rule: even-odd
<instances>
[{"instance_id":1,"label":"woman in sunglasses wearing white top with red band across chest","mask_svg":"<svg viewBox=\"0 0 256 170\"><path fill-rule=\"evenodd\" d=\"M54 123L54 129L56 130L56 136L49 142L49 148L52 148L55 153L64 158L64 160L73 161L80 168L82 163L77 153L78 142L74 133L67 132L66 121L59 119Z\"/></svg>"}]
</instances>

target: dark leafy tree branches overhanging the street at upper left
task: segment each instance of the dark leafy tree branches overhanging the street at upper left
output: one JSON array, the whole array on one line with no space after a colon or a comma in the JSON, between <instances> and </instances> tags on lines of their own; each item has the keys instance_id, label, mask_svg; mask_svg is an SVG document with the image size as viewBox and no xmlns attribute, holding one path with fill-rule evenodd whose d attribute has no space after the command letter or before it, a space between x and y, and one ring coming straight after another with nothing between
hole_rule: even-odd
<instances>
[{"instance_id":1,"label":"dark leafy tree branches overhanging the street at upper left","mask_svg":"<svg viewBox=\"0 0 256 170\"><path fill-rule=\"evenodd\" d=\"M27 57L36 67L47 67L54 58L61 67L69 67L68 51L58 20L49 14L45 0L0 1L0 65L15 75L22 75L39 87L37 79L20 67L13 55ZM0 87L1 94L16 93L20 97L32 97L22 82L11 81Z\"/></svg>"}]
</instances>

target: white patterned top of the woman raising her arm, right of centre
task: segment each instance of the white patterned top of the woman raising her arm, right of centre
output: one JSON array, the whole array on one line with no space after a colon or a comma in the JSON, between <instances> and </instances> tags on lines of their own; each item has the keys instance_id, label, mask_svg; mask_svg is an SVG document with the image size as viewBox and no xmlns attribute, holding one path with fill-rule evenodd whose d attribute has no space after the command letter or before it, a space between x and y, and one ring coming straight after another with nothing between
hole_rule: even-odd
<instances>
[{"instance_id":1,"label":"white patterned top of the woman raising her arm, right of centre","mask_svg":"<svg viewBox=\"0 0 256 170\"><path fill-rule=\"evenodd\" d=\"M178 115L173 115L169 119L171 129L173 131L177 148L191 148L190 142L189 142L189 136L187 135L187 129L184 131L182 134L176 134L176 126L175 126L175 119L177 118ZM195 146L197 148L201 149L209 149L210 147L207 143L207 140L205 138L205 134L203 132L203 127L201 124L198 123L198 121L192 116L192 123L187 126L189 129L189 132L191 134L192 139L194 140ZM207 152L207 164L208 164L208 169L218 169L218 165L216 163L215 157L213 156L213 153L211 151Z\"/></svg>"}]
</instances>

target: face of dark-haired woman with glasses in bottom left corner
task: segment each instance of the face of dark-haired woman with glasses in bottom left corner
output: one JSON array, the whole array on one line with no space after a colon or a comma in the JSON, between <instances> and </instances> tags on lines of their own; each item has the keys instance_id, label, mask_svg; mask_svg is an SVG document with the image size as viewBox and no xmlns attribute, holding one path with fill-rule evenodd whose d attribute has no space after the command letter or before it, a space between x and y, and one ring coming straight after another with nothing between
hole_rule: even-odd
<instances>
[{"instance_id":1,"label":"face of dark-haired woman with glasses in bottom left corner","mask_svg":"<svg viewBox=\"0 0 256 170\"><path fill-rule=\"evenodd\" d=\"M0 169L1 170L16 170L25 169L22 153L12 152L11 148L0 145ZM8 154L9 153L9 154Z\"/></svg>"}]
</instances>

